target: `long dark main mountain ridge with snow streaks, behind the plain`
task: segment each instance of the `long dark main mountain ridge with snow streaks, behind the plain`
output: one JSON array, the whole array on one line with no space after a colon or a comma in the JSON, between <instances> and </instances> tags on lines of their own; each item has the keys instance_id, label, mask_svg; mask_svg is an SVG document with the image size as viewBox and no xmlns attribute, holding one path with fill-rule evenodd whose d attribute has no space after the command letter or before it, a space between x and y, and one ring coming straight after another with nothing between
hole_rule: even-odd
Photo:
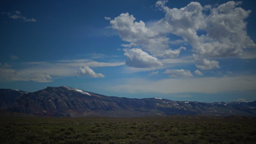
<instances>
[{"instance_id":1,"label":"long dark main mountain ridge with snow streaks, behind the plain","mask_svg":"<svg viewBox=\"0 0 256 144\"><path fill-rule=\"evenodd\" d=\"M18 96L16 102L8 110L57 117L256 116L255 101L201 103L171 101L162 98L136 99L103 96L67 86L47 87L34 93Z\"/></svg>"}]
</instances>

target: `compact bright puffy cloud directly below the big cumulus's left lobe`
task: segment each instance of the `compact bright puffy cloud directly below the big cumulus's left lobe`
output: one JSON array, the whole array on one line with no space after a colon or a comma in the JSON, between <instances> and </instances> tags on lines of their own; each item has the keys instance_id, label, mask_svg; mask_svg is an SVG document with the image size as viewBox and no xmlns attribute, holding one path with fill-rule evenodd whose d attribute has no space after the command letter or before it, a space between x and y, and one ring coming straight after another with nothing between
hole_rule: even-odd
<instances>
[{"instance_id":1,"label":"compact bright puffy cloud directly below the big cumulus's left lobe","mask_svg":"<svg viewBox=\"0 0 256 144\"><path fill-rule=\"evenodd\" d=\"M153 56L139 48L124 49L126 56L126 64L135 68L150 68L162 66L162 63Z\"/></svg>"}]
</instances>

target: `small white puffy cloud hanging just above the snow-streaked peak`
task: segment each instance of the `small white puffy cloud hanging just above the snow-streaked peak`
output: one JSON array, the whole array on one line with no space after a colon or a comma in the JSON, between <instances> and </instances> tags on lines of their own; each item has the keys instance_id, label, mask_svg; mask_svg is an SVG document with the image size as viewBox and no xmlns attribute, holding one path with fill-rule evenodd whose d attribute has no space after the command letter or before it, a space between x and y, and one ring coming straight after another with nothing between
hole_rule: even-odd
<instances>
[{"instance_id":1,"label":"small white puffy cloud hanging just above the snow-streaked peak","mask_svg":"<svg viewBox=\"0 0 256 144\"><path fill-rule=\"evenodd\" d=\"M85 67L80 67L80 71L75 71L76 76L82 76L82 75L86 75L89 77L93 77L93 78L100 78L100 77L105 77L103 74L101 73L95 73L92 69L90 69L89 67L85 66Z\"/></svg>"}]
</instances>

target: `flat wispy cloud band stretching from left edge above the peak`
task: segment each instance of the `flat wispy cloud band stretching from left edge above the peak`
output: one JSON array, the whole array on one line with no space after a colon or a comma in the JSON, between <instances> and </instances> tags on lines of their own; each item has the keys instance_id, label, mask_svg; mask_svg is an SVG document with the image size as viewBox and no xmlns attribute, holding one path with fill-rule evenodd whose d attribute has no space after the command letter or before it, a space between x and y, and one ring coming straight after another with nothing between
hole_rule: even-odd
<instances>
[{"instance_id":1,"label":"flat wispy cloud band stretching from left edge above the peak","mask_svg":"<svg viewBox=\"0 0 256 144\"><path fill-rule=\"evenodd\" d=\"M14 55L12 55L14 56ZM15 57L14 57L15 58ZM10 68L7 63L0 65L0 81L34 81L37 83L53 82L54 78L86 75L93 78L105 77L94 72L90 67L114 67L125 65L125 62L98 62L91 59L34 61L19 63L18 70Z\"/></svg>"}]
</instances>

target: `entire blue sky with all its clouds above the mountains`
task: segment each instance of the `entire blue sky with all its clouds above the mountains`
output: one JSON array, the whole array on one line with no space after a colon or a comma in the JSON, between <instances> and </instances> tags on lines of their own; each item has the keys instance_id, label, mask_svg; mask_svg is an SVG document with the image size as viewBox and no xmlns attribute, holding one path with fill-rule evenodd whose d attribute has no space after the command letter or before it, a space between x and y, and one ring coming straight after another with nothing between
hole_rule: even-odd
<instances>
[{"instance_id":1,"label":"entire blue sky with all its clouds above the mountains","mask_svg":"<svg viewBox=\"0 0 256 144\"><path fill-rule=\"evenodd\" d=\"M0 88L256 100L254 0L0 0Z\"/></svg>"}]
</instances>

